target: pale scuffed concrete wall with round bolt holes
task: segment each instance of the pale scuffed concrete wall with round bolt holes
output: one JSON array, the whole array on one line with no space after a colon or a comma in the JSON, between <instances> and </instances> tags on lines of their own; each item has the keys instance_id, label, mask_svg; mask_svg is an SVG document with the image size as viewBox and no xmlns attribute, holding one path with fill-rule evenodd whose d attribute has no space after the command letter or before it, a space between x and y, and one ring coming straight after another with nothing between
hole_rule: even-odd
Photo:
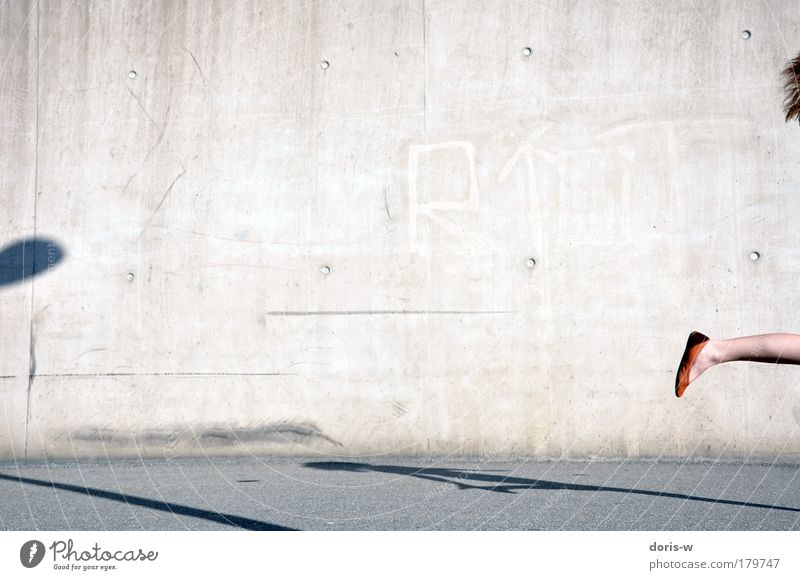
<instances>
[{"instance_id":1,"label":"pale scuffed concrete wall with round bolt holes","mask_svg":"<svg viewBox=\"0 0 800 580\"><path fill-rule=\"evenodd\" d=\"M0 457L800 459L798 367L673 395L692 329L800 332L799 28L795 0L2 3L0 246L64 258L0 287Z\"/></svg>"}]
</instances>

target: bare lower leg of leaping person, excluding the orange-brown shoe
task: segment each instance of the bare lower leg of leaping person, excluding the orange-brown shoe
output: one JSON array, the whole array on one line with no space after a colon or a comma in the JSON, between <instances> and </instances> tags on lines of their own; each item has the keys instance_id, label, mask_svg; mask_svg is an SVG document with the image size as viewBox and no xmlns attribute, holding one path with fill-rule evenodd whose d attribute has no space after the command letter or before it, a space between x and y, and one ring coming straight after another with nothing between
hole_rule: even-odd
<instances>
[{"instance_id":1,"label":"bare lower leg of leaping person, excluding the orange-brown shoe","mask_svg":"<svg viewBox=\"0 0 800 580\"><path fill-rule=\"evenodd\" d=\"M689 382L714 365L737 360L800 365L800 334L776 332L709 340L692 365Z\"/></svg>"}]
</instances>

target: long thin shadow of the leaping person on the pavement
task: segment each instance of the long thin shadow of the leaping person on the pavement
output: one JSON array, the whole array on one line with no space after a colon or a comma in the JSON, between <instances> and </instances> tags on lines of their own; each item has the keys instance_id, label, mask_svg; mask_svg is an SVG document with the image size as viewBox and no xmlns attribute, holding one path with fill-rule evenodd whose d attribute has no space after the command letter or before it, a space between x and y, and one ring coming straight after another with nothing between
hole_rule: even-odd
<instances>
[{"instance_id":1,"label":"long thin shadow of the leaping person on the pavement","mask_svg":"<svg viewBox=\"0 0 800 580\"><path fill-rule=\"evenodd\" d=\"M350 463L346 461L311 461L303 464L304 467L312 469L323 469L326 471L353 471L367 472L375 471L381 473L394 473L398 475L408 475L437 481L441 483L452 483L458 489L482 489L484 491L496 491L499 493L515 493L518 489L545 489L559 491L610 491L615 493L630 493L635 495L648 495L652 497L669 497L673 499L684 499L690 501L701 501L720 505L737 505L744 507L765 508L771 510L781 510L787 512L800 512L800 508L770 505L764 503L754 503L747 501L735 501L732 499L715 499L711 497L701 497L688 495L685 493L673 493L668 491L652 491L648 489L635 489L627 487L610 487L605 485L582 485L578 483L561 483L558 481L547 481L544 479L526 479L524 477L508 477L505 475L491 475L448 468L427 468L427 467L406 467L402 465L371 465L369 463ZM474 482L474 483L465 483ZM475 483L493 483L495 485L475 485Z\"/></svg>"}]
</instances>

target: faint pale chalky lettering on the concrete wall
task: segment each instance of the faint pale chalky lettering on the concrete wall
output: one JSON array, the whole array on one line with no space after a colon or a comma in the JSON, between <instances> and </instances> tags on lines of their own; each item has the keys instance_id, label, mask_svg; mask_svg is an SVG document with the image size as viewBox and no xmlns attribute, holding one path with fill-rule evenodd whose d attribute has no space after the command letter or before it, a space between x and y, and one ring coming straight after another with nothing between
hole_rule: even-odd
<instances>
[{"instance_id":1,"label":"faint pale chalky lettering on the concrete wall","mask_svg":"<svg viewBox=\"0 0 800 580\"><path fill-rule=\"evenodd\" d=\"M524 190L514 208L518 217L552 235L569 238L580 231L593 244L636 243L645 223L668 231L697 216L715 223L731 173L740 194L760 194L763 177L746 169L757 165L756 136L747 118L715 117L577 130L546 122L505 157L473 141L414 144L408 156L409 249L425 254L432 239L449 238L469 251L490 251L503 232L487 230L482 226L491 222L476 216L497 211L498 198L512 196L514 187ZM460 175L453 169L456 158ZM487 158L490 170L479 171L476 164Z\"/></svg>"}]
</instances>

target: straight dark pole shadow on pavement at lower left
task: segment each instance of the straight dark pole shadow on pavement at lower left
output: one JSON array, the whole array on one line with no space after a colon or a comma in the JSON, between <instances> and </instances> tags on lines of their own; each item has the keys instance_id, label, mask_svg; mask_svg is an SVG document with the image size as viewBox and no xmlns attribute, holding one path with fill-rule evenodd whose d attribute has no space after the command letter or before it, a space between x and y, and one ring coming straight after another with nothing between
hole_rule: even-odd
<instances>
[{"instance_id":1,"label":"straight dark pole shadow on pavement at lower left","mask_svg":"<svg viewBox=\"0 0 800 580\"><path fill-rule=\"evenodd\" d=\"M55 481L45 481L42 479L31 479L28 477L15 477L13 475L6 475L0 473L0 480L18 481L28 485L38 485L40 487L50 487L53 489L63 489L75 493L88 495L92 498L110 499L113 501L121 501L130 505L137 505L146 507L162 512L170 512L178 516L188 516L192 518L200 518L226 526L233 526L235 528L242 528L244 530L259 530L259 531L296 531L293 528L285 528L275 524L262 522L259 520L251 520L250 518L242 518L239 516L232 516L229 514L221 514L208 510L201 510L181 504L167 503L153 499L147 499L135 495L127 495L122 493L115 493L113 491L105 491L102 489L95 489L93 487L84 487L80 485L71 485L68 483L56 483Z\"/></svg>"}]
</instances>

